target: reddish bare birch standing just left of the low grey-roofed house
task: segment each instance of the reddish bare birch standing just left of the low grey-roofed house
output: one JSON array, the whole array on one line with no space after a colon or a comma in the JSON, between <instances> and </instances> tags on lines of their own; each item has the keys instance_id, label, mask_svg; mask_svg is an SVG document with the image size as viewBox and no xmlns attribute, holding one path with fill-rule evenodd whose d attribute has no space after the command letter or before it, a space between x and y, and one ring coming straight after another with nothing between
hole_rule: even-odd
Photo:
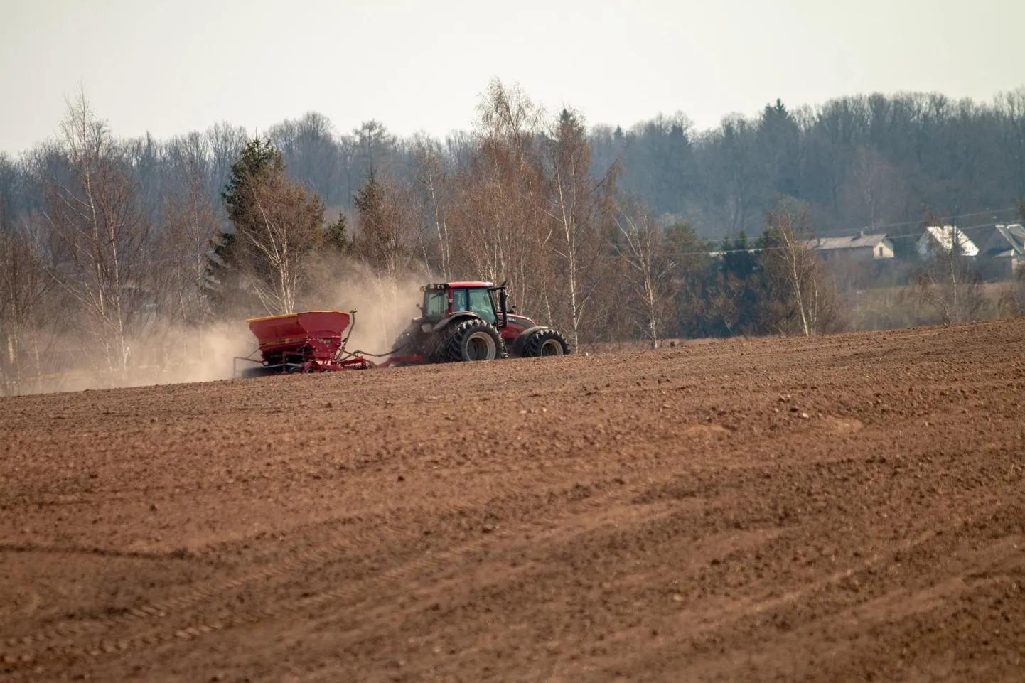
<instances>
[{"instance_id":1,"label":"reddish bare birch standing just left of the low grey-roofed house","mask_svg":"<svg viewBox=\"0 0 1025 683\"><path fill-rule=\"evenodd\" d=\"M777 204L767 219L758 257L767 285L763 321L781 334L822 334L838 324L835 287L812 248L807 206Z\"/></svg>"}]
</instances>

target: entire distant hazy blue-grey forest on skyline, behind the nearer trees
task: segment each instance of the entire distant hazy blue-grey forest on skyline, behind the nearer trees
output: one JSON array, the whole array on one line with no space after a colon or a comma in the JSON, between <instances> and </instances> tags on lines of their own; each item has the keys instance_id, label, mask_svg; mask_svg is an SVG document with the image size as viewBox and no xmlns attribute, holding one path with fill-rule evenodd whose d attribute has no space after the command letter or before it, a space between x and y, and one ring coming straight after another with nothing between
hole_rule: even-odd
<instances>
[{"instance_id":1,"label":"entire distant hazy blue-grey forest on skyline, behind the nearer trees","mask_svg":"<svg viewBox=\"0 0 1025 683\"><path fill-rule=\"evenodd\" d=\"M424 146L446 169L465 170L478 132L400 138L378 121L338 132L327 117L310 113L262 135L281 153L290 177L329 209L351 211L370 169L412 180ZM999 212L1025 196L1025 87L988 104L940 93L872 94L790 111L777 101L757 116L729 116L711 130L697 130L675 114L625 129L594 125L585 134L596 169L618 162L620 187L643 197L663 225L686 220L712 240L760 231L780 197L806 202L816 226L833 232L916 224L924 205L941 215ZM244 129L222 123L123 145L140 200L156 215L179 183L183 160L199 164L208 200L219 204L246 139ZM40 206L44 193L33 169L53 147L40 145L18 159L0 154L0 197L8 212Z\"/></svg>"}]
</instances>

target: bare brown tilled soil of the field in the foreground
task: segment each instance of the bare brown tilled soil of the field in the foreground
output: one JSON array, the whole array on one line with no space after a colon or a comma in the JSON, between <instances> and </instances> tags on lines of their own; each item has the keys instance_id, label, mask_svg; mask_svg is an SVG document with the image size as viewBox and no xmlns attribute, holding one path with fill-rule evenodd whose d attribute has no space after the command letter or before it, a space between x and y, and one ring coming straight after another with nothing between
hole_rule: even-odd
<instances>
[{"instance_id":1,"label":"bare brown tilled soil of the field in the foreground","mask_svg":"<svg viewBox=\"0 0 1025 683\"><path fill-rule=\"evenodd\" d=\"M0 401L0 678L1020 681L1025 321Z\"/></svg>"}]
</instances>

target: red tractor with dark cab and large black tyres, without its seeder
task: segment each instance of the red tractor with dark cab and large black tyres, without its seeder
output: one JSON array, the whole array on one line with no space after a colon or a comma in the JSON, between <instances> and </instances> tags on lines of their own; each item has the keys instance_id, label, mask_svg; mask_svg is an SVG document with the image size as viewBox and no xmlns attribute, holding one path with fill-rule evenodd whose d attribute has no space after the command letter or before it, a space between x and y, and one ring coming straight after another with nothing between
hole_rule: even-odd
<instances>
[{"instance_id":1,"label":"red tractor with dark cab and large black tyres, without its seeder","mask_svg":"<svg viewBox=\"0 0 1025 683\"><path fill-rule=\"evenodd\" d=\"M560 332L516 315L516 307L510 312L504 283L496 287L490 282L446 282L420 290L421 315L410 322L392 352L397 364L570 353Z\"/></svg>"}]
</instances>

